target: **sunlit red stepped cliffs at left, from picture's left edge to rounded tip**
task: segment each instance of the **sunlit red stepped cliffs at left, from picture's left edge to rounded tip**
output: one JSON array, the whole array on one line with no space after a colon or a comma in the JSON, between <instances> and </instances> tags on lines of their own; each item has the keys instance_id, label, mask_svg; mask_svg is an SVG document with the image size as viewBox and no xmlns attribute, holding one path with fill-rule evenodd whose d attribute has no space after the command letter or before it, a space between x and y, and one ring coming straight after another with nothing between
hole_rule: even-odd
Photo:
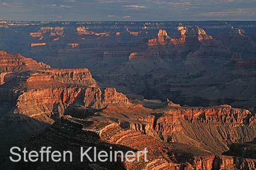
<instances>
[{"instance_id":1,"label":"sunlit red stepped cliffs at left, from picture's left edge to rounded tip","mask_svg":"<svg viewBox=\"0 0 256 170\"><path fill-rule=\"evenodd\" d=\"M50 69L44 63L6 52L1 52L0 68L6 71L1 73L1 84L5 83L5 76L12 75L8 76L2 90L16 95L16 99L10 96L11 103L16 103L16 114L38 118L63 115L73 103L94 109L102 109L109 104L129 105L127 97L115 88L97 87L86 68Z\"/></svg>"}]
</instances>

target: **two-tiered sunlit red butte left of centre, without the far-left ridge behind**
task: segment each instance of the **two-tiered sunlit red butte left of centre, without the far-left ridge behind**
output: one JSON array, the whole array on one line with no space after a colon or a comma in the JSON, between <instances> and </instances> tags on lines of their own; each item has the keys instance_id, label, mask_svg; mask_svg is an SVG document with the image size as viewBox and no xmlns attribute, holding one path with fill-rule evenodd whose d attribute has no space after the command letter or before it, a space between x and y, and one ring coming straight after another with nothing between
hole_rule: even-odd
<instances>
[{"instance_id":1,"label":"two-tiered sunlit red butte left of centre, without the far-left ridge behind","mask_svg":"<svg viewBox=\"0 0 256 170\"><path fill-rule=\"evenodd\" d=\"M93 109L102 109L108 105L130 105L127 97L115 88L101 90L99 87L84 87L96 86L88 71L53 69L44 74L31 74L27 78L28 90L18 96L14 113L42 120L46 116L59 117L74 104Z\"/></svg>"}]
</instances>

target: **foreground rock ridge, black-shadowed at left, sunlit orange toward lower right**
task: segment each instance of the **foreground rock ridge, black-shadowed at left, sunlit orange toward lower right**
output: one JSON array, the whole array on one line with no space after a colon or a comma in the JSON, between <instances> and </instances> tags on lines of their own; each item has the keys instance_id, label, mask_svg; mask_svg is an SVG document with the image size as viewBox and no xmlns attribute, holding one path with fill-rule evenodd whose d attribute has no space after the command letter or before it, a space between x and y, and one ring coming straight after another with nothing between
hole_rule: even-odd
<instances>
[{"instance_id":1,"label":"foreground rock ridge, black-shadowed at left, sunlit orange toward lower right","mask_svg":"<svg viewBox=\"0 0 256 170\"><path fill-rule=\"evenodd\" d=\"M68 128L67 128L68 127ZM68 129L68 130L66 130ZM48 134L48 135L46 135ZM72 136L71 136L72 134ZM53 145L52 139L58 141L58 145ZM61 140L60 140L61 139ZM71 142L72 141L72 142ZM143 150L147 148L147 159L149 162L124 162L118 169L254 169L255 159L236 158L232 156L214 155L201 148L184 145L181 143L171 143L166 145L157 141L148 135L144 135L135 130L121 128L115 122L88 121L65 116L55 122L51 128L43 131L42 134L27 139L23 143L24 147L33 148L36 146L51 145L59 150L69 148L72 150L75 160L79 162L79 151L76 147L97 145L100 150L109 151L107 146L112 146L113 150L126 150L127 147L134 150ZM37 143L37 145L34 145ZM76 143L76 145L72 145ZM108 144L107 144L108 143ZM78 145L78 146L77 146ZM32 149L31 148L31 149ZM89 153L91 154L91 153ZM139 155L135 155L138 158ZM143 159L143 154L141 159ZM120 162L108 162L108 164L97 163L98 168L107 169L117 168ZM30 167L31 163L22 162L22 167ZM48 164L53 164L49 162ZM90 163L79 163L69 165L63 163L54 163L55 167L69 167L77 169L81 166L86 167ZM46 163L36 165L40 169L47 167Z\"/></svg>"}]
</instances>

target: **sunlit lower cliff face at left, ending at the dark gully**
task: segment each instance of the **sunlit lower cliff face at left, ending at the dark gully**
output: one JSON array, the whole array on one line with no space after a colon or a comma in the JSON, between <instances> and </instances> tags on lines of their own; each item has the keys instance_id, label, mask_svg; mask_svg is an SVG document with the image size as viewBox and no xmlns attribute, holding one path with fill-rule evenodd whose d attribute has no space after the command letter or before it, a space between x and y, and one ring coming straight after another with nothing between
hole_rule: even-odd
<instances>
[{"instance_id":1,"label":"sunlit lower cliff face at left, ending at the dark gully","mask_svg":"<svg viewBox=\"0 0 256 170\"><path fill-rule=\"evenodd\" d=\"M63 115L64 109L73 103L80 91L80 88L30 90L18 97L14 113L39 119L55 113Z\"/></svg>"}]
</instances>

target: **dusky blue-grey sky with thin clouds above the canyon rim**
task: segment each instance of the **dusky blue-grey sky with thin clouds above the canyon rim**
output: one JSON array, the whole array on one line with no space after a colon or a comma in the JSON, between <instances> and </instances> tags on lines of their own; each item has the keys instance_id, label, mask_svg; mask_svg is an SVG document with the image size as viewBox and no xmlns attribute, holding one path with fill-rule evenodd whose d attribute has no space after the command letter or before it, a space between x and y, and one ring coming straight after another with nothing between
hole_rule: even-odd
<instances>
[{"instance_id":1,"label":"dusky blue-grey sky with thin clouds above the canyon rim","mask_svg":"<svg viewBox=\"0 0 256 170\"><path fill-rule=\"evenodd\" d=\"M256 20L256 0L0 0L0 20Z\"/></svg>"}]
</instances>

